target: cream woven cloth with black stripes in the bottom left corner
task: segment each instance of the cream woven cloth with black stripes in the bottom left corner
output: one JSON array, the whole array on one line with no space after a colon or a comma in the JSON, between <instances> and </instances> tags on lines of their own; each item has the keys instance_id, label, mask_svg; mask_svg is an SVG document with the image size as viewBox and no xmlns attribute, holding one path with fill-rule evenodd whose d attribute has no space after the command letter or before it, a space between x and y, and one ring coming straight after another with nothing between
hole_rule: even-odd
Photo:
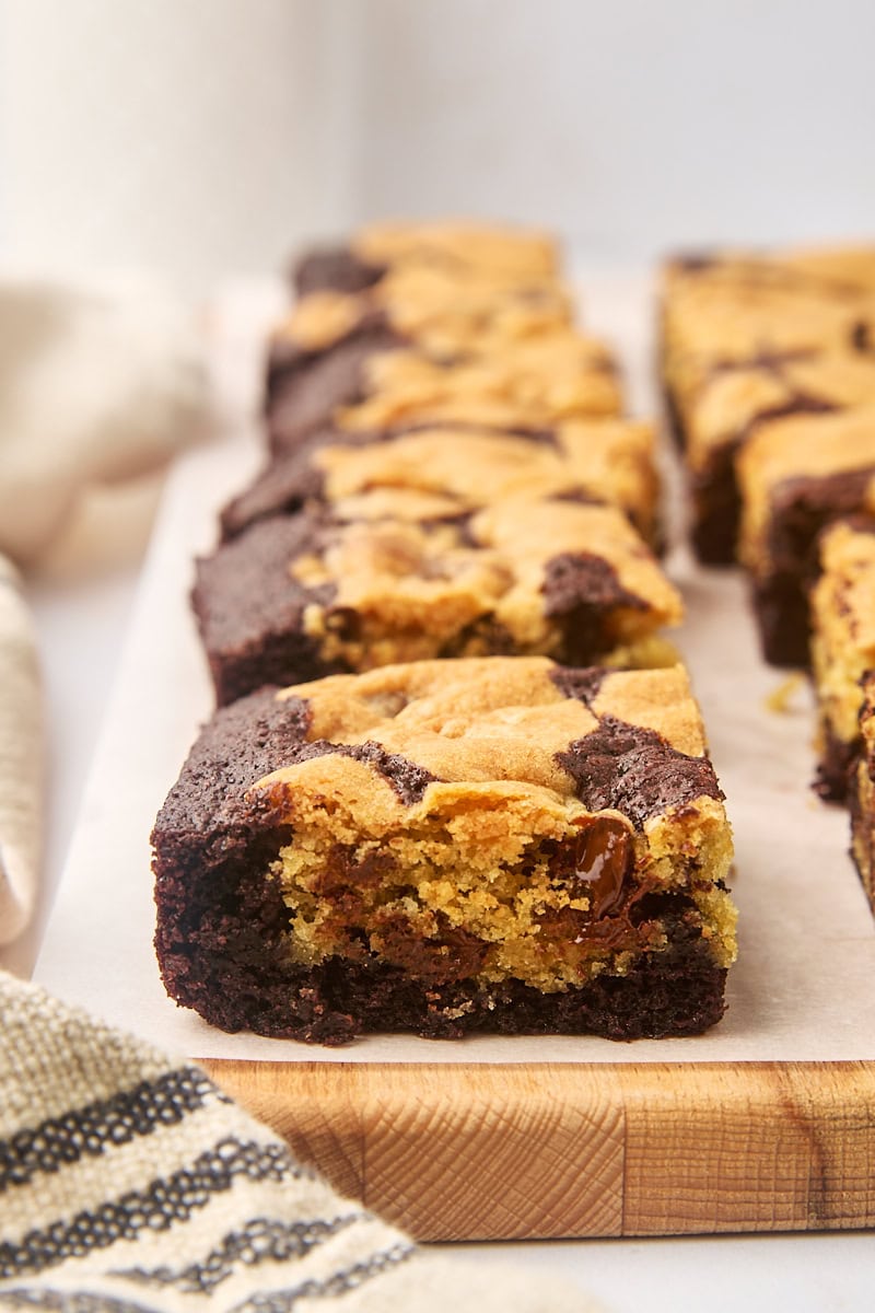
<instances>
[{"instance_id":1,"label":"cream woven cloth with black stripes in the bottom left corner","mask_svg":"<svg viewBox=\"0 0 875 1313\"><path fill-rule=\"evenodd\" d=\"M342 1199L207 1075L0 973L0 1310L588 1313Z\"/></svg>"}]
</instances>

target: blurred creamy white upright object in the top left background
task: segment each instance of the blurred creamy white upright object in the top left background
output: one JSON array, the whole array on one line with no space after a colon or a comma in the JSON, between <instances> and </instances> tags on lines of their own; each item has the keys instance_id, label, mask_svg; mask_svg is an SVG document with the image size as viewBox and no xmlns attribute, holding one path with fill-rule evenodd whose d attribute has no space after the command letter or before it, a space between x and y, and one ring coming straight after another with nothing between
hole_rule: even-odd
<instances>
[{"instance_id":1,"label":"blurred creamy white upright object in the top left background","mask_svg":"<svg viewBox=\"0 0 875 1313\"><path fill-rule=\"evenodd\" d=\"M205 291L344 222L348 0L0 0L0 256Z\"/></svg>"}]
</instances>

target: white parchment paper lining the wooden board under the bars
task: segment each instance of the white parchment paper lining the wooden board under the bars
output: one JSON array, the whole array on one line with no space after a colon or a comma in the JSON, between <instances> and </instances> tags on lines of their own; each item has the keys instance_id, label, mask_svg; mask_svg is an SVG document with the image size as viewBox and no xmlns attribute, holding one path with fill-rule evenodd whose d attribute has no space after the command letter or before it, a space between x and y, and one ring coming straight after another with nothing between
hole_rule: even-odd
<instances>
[{"instance_id":1,"label":"white parchment paper lining the wooden board under the bars","mask_svg":"<svg viewBox=\"0 0 875 1313\"><path fill-rule=\"evenodd\" d=\"M647 280L590 276L586 323L611 337L628 366L634 408L653 410L648 385ZM224 436L185 457L168 484L122 670L85 790L70 861L35 977L66 999L192 1057L327 1062L695 1062L875 1058L875 930L846 855L845 811L820 804L812 702L800 685L783 714L766 705L783 675L758 656L744 580L668 558L689 618L678 645L704 712L727 794L737 860L740 957L728 1012L690 1040L614 1044L598 1039L359 1040L342 1049L224 1035L177 1008L152 952L148 834L211 706L188 611L192 558L214 541L215 508L260 461L252 420L261 332L274 288L223 301L214 370ZM669 478L669 483L673 479ZM677 515L673 515L677 524Z\"/></svg>"}]
</instances>

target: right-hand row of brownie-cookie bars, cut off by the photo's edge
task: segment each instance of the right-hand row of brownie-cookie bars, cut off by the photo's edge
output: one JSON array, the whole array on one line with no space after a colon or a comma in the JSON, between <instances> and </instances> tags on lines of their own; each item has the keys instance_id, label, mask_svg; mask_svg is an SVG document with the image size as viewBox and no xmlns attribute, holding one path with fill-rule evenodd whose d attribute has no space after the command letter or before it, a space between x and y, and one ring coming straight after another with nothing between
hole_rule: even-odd
<instances>
[{"instance_id":1,"label":"right-hand row of brownie-cookie bars, cut off by the photo's edge","mask_svg":"<svg viewBox=\"0 0 875 1313\"><path fill-rule=\"evenodd\" d=\"M766 659L813 667L817 788L850 794L872 898L875 247L674 261L662 366L694 546L748 569Z\"/></svg>"}]
</instances>

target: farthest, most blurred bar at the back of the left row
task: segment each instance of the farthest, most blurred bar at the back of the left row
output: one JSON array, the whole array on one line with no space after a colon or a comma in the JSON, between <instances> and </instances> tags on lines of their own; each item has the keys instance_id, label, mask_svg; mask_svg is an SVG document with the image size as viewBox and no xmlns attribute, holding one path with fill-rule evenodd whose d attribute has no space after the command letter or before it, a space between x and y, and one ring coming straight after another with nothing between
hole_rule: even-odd
<instances>
[{"instance_id":1,"label":"farthest, most blurred bar at the back of the left row","mask_svg":"<svg viewBox=\"0 0 875 1313\"><path fill-rule=\"evenodd\" d=\"M371 223L346 242L307 252L294 270L299 295L361 291L399 264L436 265L462 277L488 272L508 280L554 277L555 240L534 228L485 223Z\"/></svg>"}]
</instances>

